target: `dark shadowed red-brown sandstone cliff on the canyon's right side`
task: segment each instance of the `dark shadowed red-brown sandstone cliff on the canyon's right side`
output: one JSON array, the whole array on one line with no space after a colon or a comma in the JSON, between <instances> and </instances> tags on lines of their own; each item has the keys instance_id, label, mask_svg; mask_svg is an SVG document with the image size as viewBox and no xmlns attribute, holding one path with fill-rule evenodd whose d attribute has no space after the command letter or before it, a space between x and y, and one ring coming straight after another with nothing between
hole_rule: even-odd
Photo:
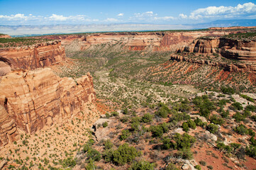
<instances>
[{"instance_id":1,"label":"dark shadowed red-brown sandstone cliff on the canyon's right side","mask_svg":"<svg viewBox=\"0 0 256 170\"><path fill-rule=\"evenodd\" d=\"M199 52L205 55L219 53L223 57L256 62L256 40L206 37L194 40L178 52Z\"/></svg>"}]
</instances>

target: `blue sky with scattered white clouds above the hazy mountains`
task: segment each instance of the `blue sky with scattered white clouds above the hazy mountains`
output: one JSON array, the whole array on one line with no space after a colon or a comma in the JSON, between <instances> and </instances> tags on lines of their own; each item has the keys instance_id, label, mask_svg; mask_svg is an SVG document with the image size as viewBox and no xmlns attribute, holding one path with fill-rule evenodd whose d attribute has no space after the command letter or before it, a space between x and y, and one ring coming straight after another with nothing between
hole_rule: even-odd
<instances>
[{"instance_id":1,"label":"blue sky with scattered white clouds above the hazy mountains","mask_svg":"<svg viewBox=\"0 0 256 170\"><path fill-rule=\"evenodd\" d=\"M206 23L256 19L256 1L6 1L0 0L0 25Z\"/></svg>"}]
</instances>

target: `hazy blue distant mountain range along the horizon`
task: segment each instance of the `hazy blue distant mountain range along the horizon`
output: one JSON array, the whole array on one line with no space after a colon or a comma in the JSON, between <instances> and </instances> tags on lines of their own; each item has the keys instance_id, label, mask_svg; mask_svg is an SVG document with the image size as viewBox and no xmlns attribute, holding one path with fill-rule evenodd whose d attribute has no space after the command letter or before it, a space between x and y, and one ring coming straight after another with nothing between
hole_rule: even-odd
<instances>
[{"instance_id":1,"label":"hazy blue distant mountain range along the horizon","mask_svg":"<svg viewBox=\"0 0 256 170\"><path fill-rule=\"evenodd\" d=\"M0 33L11 36L31 36L60 33L90 33L107 31L142 31L142 30L191 30L210 27L256 26L255 20L217 20L211 23L198 24L144 24L144 23L116 23L89 25L43 25L43 26L5 26L0 25Z\"/></svg>"}]
</instances>

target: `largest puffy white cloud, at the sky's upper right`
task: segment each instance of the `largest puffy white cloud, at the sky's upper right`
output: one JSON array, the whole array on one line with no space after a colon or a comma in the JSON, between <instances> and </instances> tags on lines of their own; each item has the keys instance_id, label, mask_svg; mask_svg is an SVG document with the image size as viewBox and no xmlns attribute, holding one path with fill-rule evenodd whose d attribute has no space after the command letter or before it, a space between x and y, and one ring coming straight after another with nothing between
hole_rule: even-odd
<instances>
[{"instance_id":1,"label":"largest puffy white cloud, at the sky's upper right","mask_svg":"<svg viewBox=\"0 0 256 170\"><path fill-rule=\"evenodd\" d=\"M208 6L207 8L199 8L190 13L189 18L235 18L237 16L249 16L256 13L256 5L252 2L238 6Z\"/></svg>"}]
</instances>

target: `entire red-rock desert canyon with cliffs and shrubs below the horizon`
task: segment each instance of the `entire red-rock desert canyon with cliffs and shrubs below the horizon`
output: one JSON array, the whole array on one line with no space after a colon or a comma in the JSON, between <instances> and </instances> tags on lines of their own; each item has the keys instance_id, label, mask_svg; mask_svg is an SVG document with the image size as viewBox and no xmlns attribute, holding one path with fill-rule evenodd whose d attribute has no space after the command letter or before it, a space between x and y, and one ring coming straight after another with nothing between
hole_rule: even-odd
<instances>
[{"instance_id":1,"label":"entire red-rock desert canyon with cliffs and shrubs below the horizon","mask_svg":"<svg viewBox=\"0 0 256 170\"><path fill-rule=\"evenodd\" d=\"M256 169L256 27L0 34L0 169Z\"/></svg>"}]
</instances>

